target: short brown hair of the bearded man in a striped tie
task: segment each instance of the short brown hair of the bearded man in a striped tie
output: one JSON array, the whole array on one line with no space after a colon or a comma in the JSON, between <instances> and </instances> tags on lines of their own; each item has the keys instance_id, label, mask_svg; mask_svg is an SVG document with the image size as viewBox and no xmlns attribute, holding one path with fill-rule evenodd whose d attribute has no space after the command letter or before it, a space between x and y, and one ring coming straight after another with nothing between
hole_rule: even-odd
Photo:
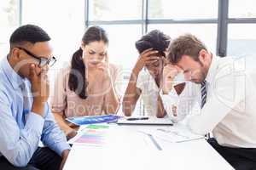
<instances>
[{"instance_id":1,"label":"short brown hair of the bearded man in a striped tie","mask_svg":"<svg viewBox=\"0 0 256 170\"><path fill-rule=\"evenodd\" d=\"M207 47L200 39L191 34L185 34L171 42L167 50L167 58L173 65L177 64L183 55L189 55L198 61L201 49L207 50Z\"/></svg>"}]
</instances>

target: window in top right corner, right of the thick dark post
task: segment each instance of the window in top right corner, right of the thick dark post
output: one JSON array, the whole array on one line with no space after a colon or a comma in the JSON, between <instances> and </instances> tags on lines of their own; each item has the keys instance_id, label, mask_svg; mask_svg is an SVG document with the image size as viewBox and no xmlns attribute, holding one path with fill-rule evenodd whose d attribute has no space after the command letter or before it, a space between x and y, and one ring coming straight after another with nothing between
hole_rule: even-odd
<instances>
[{"instance_id":1,"label":"window in top right corner, right of the thick dark post","mask_svg":"<svg viewBox=\"0 0 256 170\"><path fill-rule=\"evenodd\" d=\"M255 56L256 2L229 1L227 55Z\"/></svg>"}]
</instances>

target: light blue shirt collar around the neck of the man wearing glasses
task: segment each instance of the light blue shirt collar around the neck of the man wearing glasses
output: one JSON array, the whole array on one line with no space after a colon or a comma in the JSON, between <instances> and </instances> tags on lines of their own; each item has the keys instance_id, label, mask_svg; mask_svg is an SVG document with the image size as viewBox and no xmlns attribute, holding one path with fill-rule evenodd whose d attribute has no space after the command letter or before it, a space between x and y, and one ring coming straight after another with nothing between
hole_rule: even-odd
<instances>
[{"instance_id":1,"label":"light blue shirt collar around the neck of the man wearing glasses","mask_svg":"<svg viewBox=\"0 0 256 170\"><path fill-rule=\"evenodd\" d=\"M9 82L13 86L13 88L18 89L20 85L24 82L24 78L20 77L20 75L15 72L15 70L9 65L8 56L3 58L0 66L3 68L3 72L6 77L9 79Z\"/></svg>"}]
</instances>

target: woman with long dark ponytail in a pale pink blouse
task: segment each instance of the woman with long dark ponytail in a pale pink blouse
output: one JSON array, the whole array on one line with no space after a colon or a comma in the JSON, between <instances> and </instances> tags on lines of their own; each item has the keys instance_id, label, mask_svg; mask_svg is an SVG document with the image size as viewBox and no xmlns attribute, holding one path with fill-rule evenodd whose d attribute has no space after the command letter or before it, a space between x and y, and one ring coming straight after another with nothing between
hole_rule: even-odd
<instances>
[{"instance_id":1,"label":"woman with long dark ponytail in a pale pink blouse","mask_svg":"<svg viewBox=\"0 0 256 170\"><path fill-rule=\"evenodd\" d=\"M75 130L65 121L70 116L115 114L119 109L116 92L118 67L108 63L108 36L99 26L85 31L81 48L71 65L60 71L55 81L51 110L67 137Z\"/></svg>"}]
</instances>

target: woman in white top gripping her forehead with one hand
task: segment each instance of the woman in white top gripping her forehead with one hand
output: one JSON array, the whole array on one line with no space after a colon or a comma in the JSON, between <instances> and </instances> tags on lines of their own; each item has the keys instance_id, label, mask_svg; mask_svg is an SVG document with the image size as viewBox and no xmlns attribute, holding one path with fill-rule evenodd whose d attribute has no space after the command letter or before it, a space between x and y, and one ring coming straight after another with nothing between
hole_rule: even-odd
<instances>
[{"instance_id":1,"label":"woman in white top gripping her forehead with one hand","mask_svg":"<svg viewBox=\"0 0 256 170\"><path fill-rule=\"evenodd\" d=\"M123 98L123 112L131 116L141 96L148 116L164 117L166 111L160 98L163 68L167 64L166 48L171 37L162 31L154 30L136 42L140 54L132 69L130 82ZM143 69L145 68L145 69ZM179 85L175 89L183 88Z\"/></svg>"}]
</instances>

